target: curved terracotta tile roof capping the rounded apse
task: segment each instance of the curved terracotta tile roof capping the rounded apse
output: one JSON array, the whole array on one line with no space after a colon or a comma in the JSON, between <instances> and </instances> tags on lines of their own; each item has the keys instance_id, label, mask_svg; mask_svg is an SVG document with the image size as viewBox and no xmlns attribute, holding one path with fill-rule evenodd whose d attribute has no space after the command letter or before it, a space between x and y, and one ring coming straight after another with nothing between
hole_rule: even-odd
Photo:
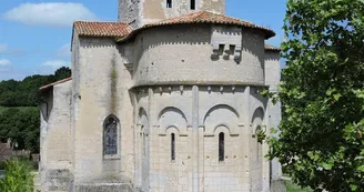
<instances>
[{"instance_id":1,"label":"curved terracotta tile roof capping the rounded apse","mask_svg":"<svg viewBox=\"0 0 364 192\"><path fill-rule=\"evenodd\" d=\"M172 24L192 24L192 23L211 23L211 24L231 24L231 26L240 26L245 28L252 28L257 29L264 32L265 38L272 38L275 36L275 32L269 28L256 26L252 22L243 21L240 19L226 17L223 14L216 14L209 11L198 11L189 14L184 14L176 18L171 18L158 22L152 22L143 26L142 28L139 28L134 31L132 31L129 36L120 38L118 41L124 41L131 37L133 37L134 33L138 33L139 31L151 28L151 27L158 27L158 26L172 26Z\"/></svg>"}]
</instances>

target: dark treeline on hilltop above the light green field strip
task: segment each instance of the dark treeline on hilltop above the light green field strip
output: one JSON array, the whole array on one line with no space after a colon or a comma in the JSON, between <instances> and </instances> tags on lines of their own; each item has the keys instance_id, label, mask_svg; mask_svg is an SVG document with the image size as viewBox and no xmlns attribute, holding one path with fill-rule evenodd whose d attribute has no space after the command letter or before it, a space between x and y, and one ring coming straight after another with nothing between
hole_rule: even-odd
<instances>
[{"instance_id":1,"label":"dark treeline on hilltop above the light green field strip","mask_svg":"<svg viewBox=\"0 0 364 192\"><path fill-rule=\"evenodd\" d=\"M38 89L44 84L69 78L71 70L60 68L54 74L30 75L22 81L8 80L0 82L0 105L2 107L37 107L39 104Z\"/></svg>"}]
</instances>

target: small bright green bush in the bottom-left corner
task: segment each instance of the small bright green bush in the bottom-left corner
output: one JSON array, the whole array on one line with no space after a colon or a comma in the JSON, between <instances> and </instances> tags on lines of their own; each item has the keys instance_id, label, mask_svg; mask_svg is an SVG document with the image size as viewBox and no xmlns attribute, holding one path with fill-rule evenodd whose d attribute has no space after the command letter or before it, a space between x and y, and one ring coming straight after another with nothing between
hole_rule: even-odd
<instances>
[{"instance_id":1,"label":"small bright green bush in the bottom-left corner","mask_svg":"<svg viewBox=\"0 0 364 192\"><path fill-rule=\"evenodd\" d=\"M28 161L11 159L6 163L6 176L0 179L3 192L32 192L33 176Z\"/></svg>"}]
</instances>

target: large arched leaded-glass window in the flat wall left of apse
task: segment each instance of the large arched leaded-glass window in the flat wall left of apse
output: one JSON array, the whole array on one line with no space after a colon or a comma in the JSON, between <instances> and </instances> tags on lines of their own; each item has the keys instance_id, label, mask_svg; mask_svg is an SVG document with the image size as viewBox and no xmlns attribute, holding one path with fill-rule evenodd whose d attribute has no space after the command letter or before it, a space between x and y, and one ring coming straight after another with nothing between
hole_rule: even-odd
<instances>
[{"instance_id":1,"label":"large arched leaded-glass window in the flat wall left of apse","mask_svg":"<svg viewBox=\"0 0 364 192\"><path fill-rule=\"evenodd\" d=\"M119 120L114 115L105 119L103 124L103 152L105 155L118 154L118 124Z\"/></svg>"}]
</instances>

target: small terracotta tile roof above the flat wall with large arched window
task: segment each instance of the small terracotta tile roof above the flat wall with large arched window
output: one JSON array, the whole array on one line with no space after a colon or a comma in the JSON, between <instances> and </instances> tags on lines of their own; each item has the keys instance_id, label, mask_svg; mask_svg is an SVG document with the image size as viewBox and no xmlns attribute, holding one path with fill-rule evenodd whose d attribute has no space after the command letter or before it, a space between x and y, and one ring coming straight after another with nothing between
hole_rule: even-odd
<instances>
[{"instance_id":1,"label":"small terracotta tile roof above the flat wall with large arched window","mask_svg":"<svg viewBox=\"0 0 364 192\"><path fill-rule=\"evenodd\" d=\"M83 37L121 38L132 31L129 24L123 22L75 21L73 28Z\"/></svg>"}]
</instances>

